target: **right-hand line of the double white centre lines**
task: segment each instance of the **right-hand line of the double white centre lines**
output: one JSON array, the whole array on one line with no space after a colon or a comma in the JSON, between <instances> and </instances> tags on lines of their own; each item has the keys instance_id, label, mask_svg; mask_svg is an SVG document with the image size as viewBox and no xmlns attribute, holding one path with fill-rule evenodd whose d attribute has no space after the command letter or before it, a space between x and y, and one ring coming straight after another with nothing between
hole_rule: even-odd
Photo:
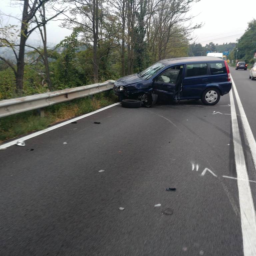
<instances>
[{"instance_id":1,"label":"right-hand line of the double white centre lines","mask_svg":"<svg viewBox=\"0 0 256 256\"><path fill-rule=\"evenodd\" d=\"M241 114L241 119L242 119L242 124L243 124L243 127L244 127L244 131L245 131L245 136L247 138L249 148L250 148L250 151L251 151L251 154L252 154L254 168L256 169L256 142L255 142L250 124L248 122L248 119L245 115L244 108L243 108L242 102L240 100L240 97L238 95L236 85L235 85L235 82L234 82L232 76L231 76L231 81L232 81L232 87L233 87L233 90L234 90L234 93L235 93L237 105L238 105L238 108L239 108L239 112Z\"/></svg>"}]
</instances>

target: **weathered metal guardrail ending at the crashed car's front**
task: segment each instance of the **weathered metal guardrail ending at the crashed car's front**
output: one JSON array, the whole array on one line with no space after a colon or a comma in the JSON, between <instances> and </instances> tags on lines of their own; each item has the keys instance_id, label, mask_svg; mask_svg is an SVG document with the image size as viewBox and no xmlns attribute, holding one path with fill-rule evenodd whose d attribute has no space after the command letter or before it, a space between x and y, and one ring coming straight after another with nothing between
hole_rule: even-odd
<instances>
[{"instance_id":1,"label":"weathered metal guardrail ending at the crashed car's front","mask_svg":"<svg viewBox=\"0 0 256 256\"><path fill-rule=\"evenodd\" d=\"M104 83L90 84L54 92L2 100L0 101L0 118L33 109L40 109L41 116L44 116L44 111L42 109L44 107L109 91L113 88L114 82L114 80L107 80Z\"/></svg>"}]
</instances>

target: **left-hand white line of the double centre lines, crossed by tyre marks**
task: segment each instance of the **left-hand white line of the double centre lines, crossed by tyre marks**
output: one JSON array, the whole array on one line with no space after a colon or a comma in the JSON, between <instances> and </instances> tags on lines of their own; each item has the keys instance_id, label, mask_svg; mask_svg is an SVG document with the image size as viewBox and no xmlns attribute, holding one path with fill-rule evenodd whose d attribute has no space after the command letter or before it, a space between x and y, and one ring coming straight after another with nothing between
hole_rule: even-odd
<instances>
[{"instance_id":1,"label":"left-hand white line of the double centre lines, crossed by tyre marks","mask_svg":"<svg viewBox=\"0 0 256 256\"><path fill-rule=\"evenodd\" d=\"M244 256L256 255L256 216L232 90L229 92ZM241 179L245 180L242 181ZM246 181L247 180L247 181Z\"/></svg>"}]
</instances>

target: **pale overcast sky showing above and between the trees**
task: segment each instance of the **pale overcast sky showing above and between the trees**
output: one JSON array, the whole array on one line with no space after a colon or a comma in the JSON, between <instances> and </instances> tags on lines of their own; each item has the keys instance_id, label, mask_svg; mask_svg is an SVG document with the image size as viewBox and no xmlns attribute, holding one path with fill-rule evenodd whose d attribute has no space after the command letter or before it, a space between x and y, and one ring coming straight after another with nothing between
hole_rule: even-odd
<instances>
[{"instance_id":1,"label":"pale overcast sky showing above and between the trees","mask_svg":"<svg viewBox=\"0 0 256 256\"><path fill-rule=\"evenodd\" d=\"M5 14L11 14L15 17L20 16L19 7L14 7L14 1L0 0L0 10ZM247 23L256 18L255 0L236 1L236 0L201 0L193 4L189 15L196 17L193 23L204 23L201 29L193 33L195 41L205 45L209 42L215 44L235 42L246 30ZM5 20L7 22L7 20ZM13 19L8 23L13 24ZM48 42L57 44L65 36L70 35L71 31L59 27L60 22L51 21L48 25ZM40 41L38 34L31 34L30 39Z\"/></svg>"}]
</instances>

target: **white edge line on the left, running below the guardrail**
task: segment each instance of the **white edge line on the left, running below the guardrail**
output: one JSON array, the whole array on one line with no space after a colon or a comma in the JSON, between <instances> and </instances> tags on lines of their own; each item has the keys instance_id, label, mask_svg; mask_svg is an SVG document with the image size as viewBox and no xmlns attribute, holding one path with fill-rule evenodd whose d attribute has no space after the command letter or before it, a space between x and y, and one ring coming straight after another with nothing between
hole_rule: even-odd
<instances>
[{"instance_id":1,"label":"white edge line on the left, running below the guardrail","mask_svg":"<svg viewBox=\"0 0 256 256\"><path fill-rule=\"evenodd\" d=\"M53 125L53 126L51 126L51 127L49 127L49 128L46 128L46 129L44 129L44 130L42 130L42 131L34 132L34 133L32 133L32 134L29 134L29 135L27 135L27 136L21 137L21 138L19 138L19 139L16 139L16 140L13 140L13 141L10 141L10 142L1 144L1 145L0 145L0 149L7 148L7 147L10 147L10 146L12 146L12 145L15 145L18 140L23 140L23 141L25 141L25 140L31 139L31 138L33 138L33 137L36 137L36 136L40 135L40 134L49 132L49 131L51 131L51 130L54 130L54 129L56 129L56 128L59 128L59 127L64 126L64 125L66 125L66 124L69 124L69 123L71 123L71 122L77 121L77 120L79 120L79 119L85 118L85 117L87 117L87 116L91 116L91 115L93 115L93 114L96 114L96 113L98 113L98 112L101 112L101 111L103 111L103 110L105 110L105 109L114 107L114 106L119 105L119 104L120 104L120 102L114 103L114 104L109 105L109 106L106 106L106 107L104 107L104 108L95 110L95 111L93 111L93 112L91 112L91 113L88 113L88 114L85 114L85 115L82 115L82 116L79 116L79 117L75 117L75 118L73 118L73 119L69 119L68 121L62 122L62 123L60 123L60 124Z\"/></svg>"}]
</instances>

